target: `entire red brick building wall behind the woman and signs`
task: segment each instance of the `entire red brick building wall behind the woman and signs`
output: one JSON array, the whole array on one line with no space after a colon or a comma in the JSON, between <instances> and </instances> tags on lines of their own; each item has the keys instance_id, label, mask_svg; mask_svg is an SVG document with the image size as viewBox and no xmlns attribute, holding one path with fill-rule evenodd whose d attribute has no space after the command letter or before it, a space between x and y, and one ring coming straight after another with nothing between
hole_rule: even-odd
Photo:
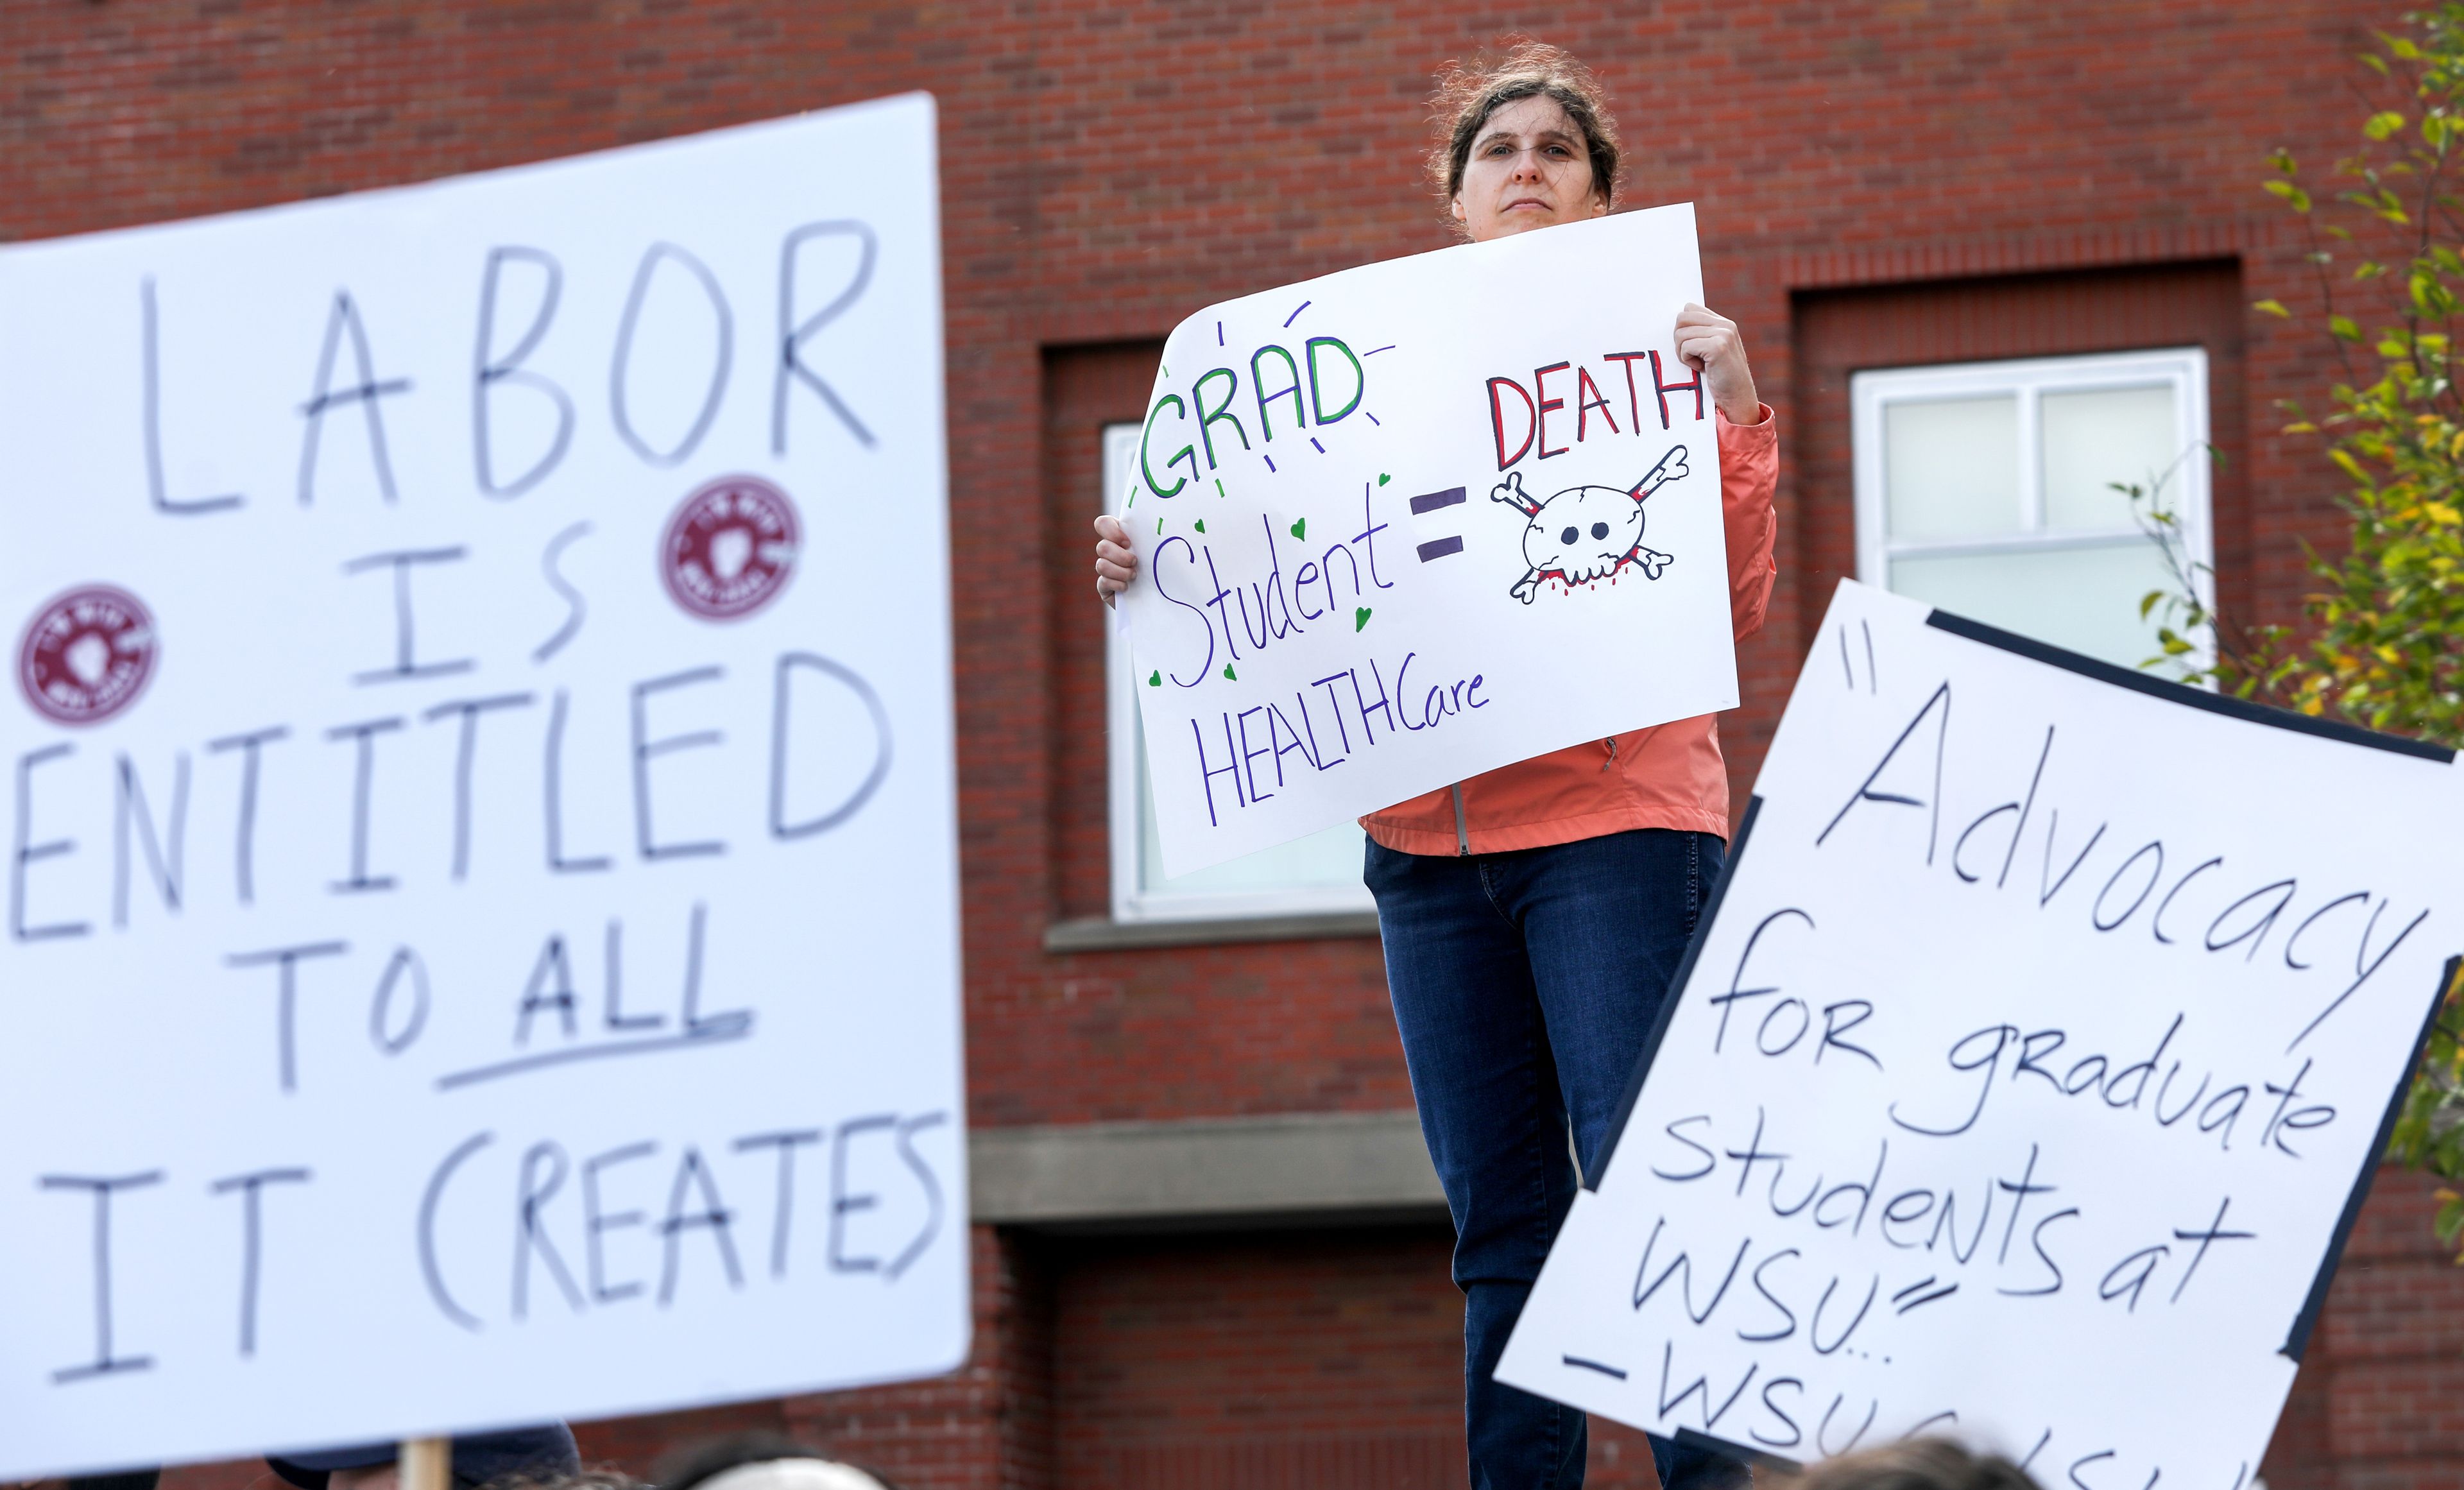
<instances>
[{"instance_id":1,"label":"entire red brick building wall behind the woman and signs","mask_svg":"<svg viewBox=\"0 0 2464 1490\"><path fill-rule=\"evenodd\" d=\"M1791 347L1796 310L1858 288L1912 303L1939 281L1979 293L1974 281L2001 278L2020 293L2016 276L2213 276L2181 266L2218 264L2237 266L2237 296L2304 303L2299 246L2255 190L2257 160L2279 143L2309 163L2333 158L2363 108L2348 57L2397 10L17 0L0 5L0 236L256 207L931 89L956 557L981 576L956 616L973 1118L1382 1108L1404 1101L1404 1081L1368 943L1040 948L1045 924L1101 904L1101 630L1084 510L1092 429L1136 411L1136 347L1207 300L1444 244L1417 175L1429 69L1515 25L1589 57L1624 116L1629 199L1700 204L1710 300L1745 325L1781 419L1784 584L1772 626L1742 653L1747 707L1725 731L1747 773L1809 611L1828 594L1836 559L1821 534L1846 500L1809 443L1823 414ZM2336 483L2309 446L2274 433L2274 401L2316 399L2321 350L2296 325L2240 313L2232 328L2235 308L2203 293L2203 335L2242 347L2237 431L2218 401L2220 443L2245 451L2220 510L2237 534L2220 549L2225 594L2284 616L2301 591L2299 542L2333 539ZM2422 1217L2410 1182L2373 1204L2328 1313L2328 1364L2304 1374L2287 1419L2301 1443L2279 1443L2282 1485L2427 1485L2464 1448L2444 1406L2459 1401L2449 1372L2464 1342L2432 1330L2464 1313L2464 1288L2407 1251L2422 1246ZM1291 1320L1247 1337L1252 1369L1308 1379L1385 1362L1412 1401L1454 1389L1441 1249L1427 1239L1220 1246L1222 1305ZM1382 1263L1360 1261L1380 1246ZM1094 1268L1069 1249L978 1236L983 1327L966 1374L744 1411L840 1438L917 1485L1050 1485L1055 1463L1077 1465L1072 1446L1089 1443L1069 1406L1082 1399L1057 1384L1082 1355L1116 1350L1114 1327L1148 1330L1138 1288L1185 1261L1133 1251ZM1096 1283L1111 1271L1116 1283ZM1114 1303L1074 1313L1096 1295ZM1318 1313L1294 1303L1303 1295ZM1417 1345L1402 1342L1400 1315L1380 1315L1402 1295L1429 1310L1414 1315L1429 1330ZM1215 1340L1232 1350L1237 1332L1222 1323ZM1190 1421L1230 1369L1148 1364L1133 1382L1143 1406L1106 1399L1106 1433ZM591 1441L641 1465L680 1426ZM1631 1463L1631 1441L1614 1443ZM1611 1468L1607 1446L1594 1460ZM237 1490L249 1473L187 1478Z\"/></svg>"}]
</instances>

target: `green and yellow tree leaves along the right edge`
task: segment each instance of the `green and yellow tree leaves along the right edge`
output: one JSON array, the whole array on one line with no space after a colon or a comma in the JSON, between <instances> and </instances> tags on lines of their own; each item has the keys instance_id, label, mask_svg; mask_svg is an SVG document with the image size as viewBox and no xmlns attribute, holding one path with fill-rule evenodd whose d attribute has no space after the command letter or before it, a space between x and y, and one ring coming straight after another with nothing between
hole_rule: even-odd
<instances>
[{"instance_id":1,"label":"green and yellow tree leaves along the right edge","mask_svg":"<svg viewBox=\"0 0 2464 1490\"><path fill-rule=\"evenodd\" d=\"M2292 150L2264 158L2259 190L2306 239L2299 266L2262 283L2257 315L2324 332L2336 360L2328 409L2287 401L2284 438L2343 483L2343 542L2306 554L2299 626L2215 613L2181 557L2178 527L2141 510L2173 584L2141 598L2161 658L2232 697L2341 717L2464 746L2464 0L2430 0L2361 57L2370 103L2333 190L2304 180ZM2351 273L2336 273L2353 244ZM2393 1162L2457 1185L2432 1219L2464 1249L2464 975L2412 1074L2388 1143ZM2464 1261L2464 1258L2459 1258Z\"/></svg>"}]
</instances>

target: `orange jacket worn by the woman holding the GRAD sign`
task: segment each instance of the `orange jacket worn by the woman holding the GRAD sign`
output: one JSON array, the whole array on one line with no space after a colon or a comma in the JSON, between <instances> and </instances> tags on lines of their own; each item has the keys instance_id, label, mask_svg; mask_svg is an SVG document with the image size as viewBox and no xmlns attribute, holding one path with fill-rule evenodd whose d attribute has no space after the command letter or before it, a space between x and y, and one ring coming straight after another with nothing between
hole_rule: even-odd
<instances>
[{"instance_id":1,"label":"orange jacket worn by the woman holding the GRAD sign","mask_svg":"<svg viewBox=\"0 0 2464 1490\"><path fill-rule=\"evenodd\" d=\"M1772 542L1779 517L1779 429L1720 426L1720 515L1727 530L1727 608L1737 640L1762 630L1772 603ZM1360 820L1370 837L1407 855L1535 850L1629 828L1685 828L1727 837L1727 763L1712 714L1567 746L1471 781L1441 786Z\"/></svg>"}]
</instances>

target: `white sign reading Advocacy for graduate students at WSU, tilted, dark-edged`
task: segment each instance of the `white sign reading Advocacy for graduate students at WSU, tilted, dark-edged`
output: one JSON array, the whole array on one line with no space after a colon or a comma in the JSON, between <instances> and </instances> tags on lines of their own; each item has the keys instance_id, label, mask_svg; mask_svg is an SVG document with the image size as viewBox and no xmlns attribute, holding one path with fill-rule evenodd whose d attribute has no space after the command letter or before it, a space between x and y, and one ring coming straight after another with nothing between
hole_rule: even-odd
<instances>
[{"instance_id":1,"label":"white sign reading Advocacy for graduate students at WSU, tilted, dark-edged","mask_svg":"<svg viewBox=\"0 0 2464 1490\"><path fill-rule=\"evenodd\" d=\"M2250 1485L2457 921L2447 751L1843 584L1498 1369L1811 1460Z\"/></svg>"}]
</instances>

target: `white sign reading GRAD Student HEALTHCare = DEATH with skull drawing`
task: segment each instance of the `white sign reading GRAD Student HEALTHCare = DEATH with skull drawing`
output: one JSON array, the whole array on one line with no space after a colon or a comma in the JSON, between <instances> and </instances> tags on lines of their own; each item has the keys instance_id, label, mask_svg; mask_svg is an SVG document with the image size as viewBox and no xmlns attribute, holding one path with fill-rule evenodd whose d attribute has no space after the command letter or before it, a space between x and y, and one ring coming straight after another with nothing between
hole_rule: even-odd
<instances>
[{"instance_id":1,"label":"white sign reading GRAD Student HEALTHCare = DEATH with skull drawing","mask_svg":"<svg viewBox=\"0 0 2464 1490\"><path fill-rule=\"evenodd\" d=\"M1180 323L1121 603L1170 874L1737 704L1693 207Z\"/></svg>"}]
</instances>

